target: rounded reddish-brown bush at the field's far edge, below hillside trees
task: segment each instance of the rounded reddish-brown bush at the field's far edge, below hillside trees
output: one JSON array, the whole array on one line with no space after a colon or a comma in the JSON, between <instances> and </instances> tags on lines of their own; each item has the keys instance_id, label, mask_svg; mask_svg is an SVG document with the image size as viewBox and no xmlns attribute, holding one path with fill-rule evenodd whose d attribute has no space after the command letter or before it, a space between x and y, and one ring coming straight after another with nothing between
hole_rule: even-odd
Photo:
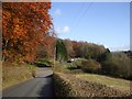
<instances>
[{"instance_id":1,"label":"rounded reddish-brown bush at the field's far edge, below hillside trees","mask_svg":"<svg viewBox=\"0 0 132 99\"><path fill-rule=\"evenodd\" d=\"M88 59L81 62L81 69L86 73L98 73L101 69L101 66L98 62Z\"/></svg>"}]
</instances>

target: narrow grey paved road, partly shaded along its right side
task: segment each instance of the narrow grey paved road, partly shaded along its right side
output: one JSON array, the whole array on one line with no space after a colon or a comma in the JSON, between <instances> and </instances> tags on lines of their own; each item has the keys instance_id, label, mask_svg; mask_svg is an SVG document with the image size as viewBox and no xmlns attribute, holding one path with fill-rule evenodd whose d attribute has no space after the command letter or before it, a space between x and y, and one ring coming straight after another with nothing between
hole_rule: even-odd
<instances>
[{"instance_id":1,"label":"narrow grey paved road, partly shaded along its right side","mask_svg":"<svg viewBox=\"0 0 132 99\"><path fill-rule=\"evenodd\" d=\"M2 97L53 97L52 76L50 67L40 67L35 78L4 89Z\"/></svg>"}]
</instances>

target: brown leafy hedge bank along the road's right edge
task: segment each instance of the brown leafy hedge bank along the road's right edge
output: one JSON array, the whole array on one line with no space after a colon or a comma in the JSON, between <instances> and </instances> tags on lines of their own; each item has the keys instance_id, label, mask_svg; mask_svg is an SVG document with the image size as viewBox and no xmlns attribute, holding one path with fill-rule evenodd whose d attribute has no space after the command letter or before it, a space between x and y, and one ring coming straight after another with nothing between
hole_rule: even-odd
<instances>
[{"instance_id":1,"label":"brown leafy hedge bank along the road's right edge","mask_svg":"<svg viewBox=\"0 0 132 99\"><path fill-rule=\"evenodd\" d=\"M127 97L122 92L106 85L86 81L72 74L54 73L56 97Z\"/></svg>"}]
</instances>

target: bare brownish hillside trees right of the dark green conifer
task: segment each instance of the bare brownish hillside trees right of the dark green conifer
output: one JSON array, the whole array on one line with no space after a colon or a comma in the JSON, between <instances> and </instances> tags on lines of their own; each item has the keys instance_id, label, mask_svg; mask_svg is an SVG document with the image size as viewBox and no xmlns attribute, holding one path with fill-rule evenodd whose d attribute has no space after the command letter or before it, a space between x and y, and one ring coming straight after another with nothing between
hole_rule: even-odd
<instances>
[{"instance_id":1,"label":"bare brownish hillside trees right of the dark green conifer","mask_svg":"<svg viewBox=\"0 0 132 99\"><path fill-rule=\"evenodd\" d=\"M105 52L103 45L97 45L87 42L77 42L70 40L64 40L68 57L82 57L87 59L98 59Z\"/></svg>"}]
</instances>

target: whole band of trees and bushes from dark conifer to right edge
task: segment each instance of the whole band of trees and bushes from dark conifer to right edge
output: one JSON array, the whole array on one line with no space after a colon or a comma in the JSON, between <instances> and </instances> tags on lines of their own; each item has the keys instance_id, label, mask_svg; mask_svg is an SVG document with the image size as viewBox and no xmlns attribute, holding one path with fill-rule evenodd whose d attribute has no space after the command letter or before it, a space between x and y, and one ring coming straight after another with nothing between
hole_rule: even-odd
<instances>
[{"instance_id":1,"label":"whole band of trees and bushes from dark conifer to right edge","mask_svg":"<svg viewBox=\"0 0 132 99\"><path fill-rule=\"evenodd\" d=\"M57 41L57 59L84 58L80 64L70 68L81 68L84 72L132 79L132 53L110 52L103 45L70 40Z\"/></svg>"}]
</instances>

